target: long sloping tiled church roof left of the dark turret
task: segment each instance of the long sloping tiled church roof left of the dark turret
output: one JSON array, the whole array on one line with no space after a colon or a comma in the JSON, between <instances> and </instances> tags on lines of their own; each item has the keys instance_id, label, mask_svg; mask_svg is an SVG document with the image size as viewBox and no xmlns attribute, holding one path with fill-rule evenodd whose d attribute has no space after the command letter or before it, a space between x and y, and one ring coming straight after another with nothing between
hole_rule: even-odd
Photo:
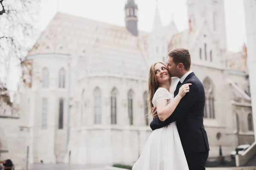
<instances>
[{"instance_id":1,"label":"long sloping tiled church roof left of the dark turret","mask_svg":"<svg viewBox=\"0 0 256 170\"><path fill-rule=\"evenodd\" d=\"M148 34L140 31L140 36ZM77 48L88 51L96 42L137 49L137 37L125 28L70 14L57 13L29 51L29 56L42 53L70 54L73 40Z\"/></svg>"}]
</instances>

